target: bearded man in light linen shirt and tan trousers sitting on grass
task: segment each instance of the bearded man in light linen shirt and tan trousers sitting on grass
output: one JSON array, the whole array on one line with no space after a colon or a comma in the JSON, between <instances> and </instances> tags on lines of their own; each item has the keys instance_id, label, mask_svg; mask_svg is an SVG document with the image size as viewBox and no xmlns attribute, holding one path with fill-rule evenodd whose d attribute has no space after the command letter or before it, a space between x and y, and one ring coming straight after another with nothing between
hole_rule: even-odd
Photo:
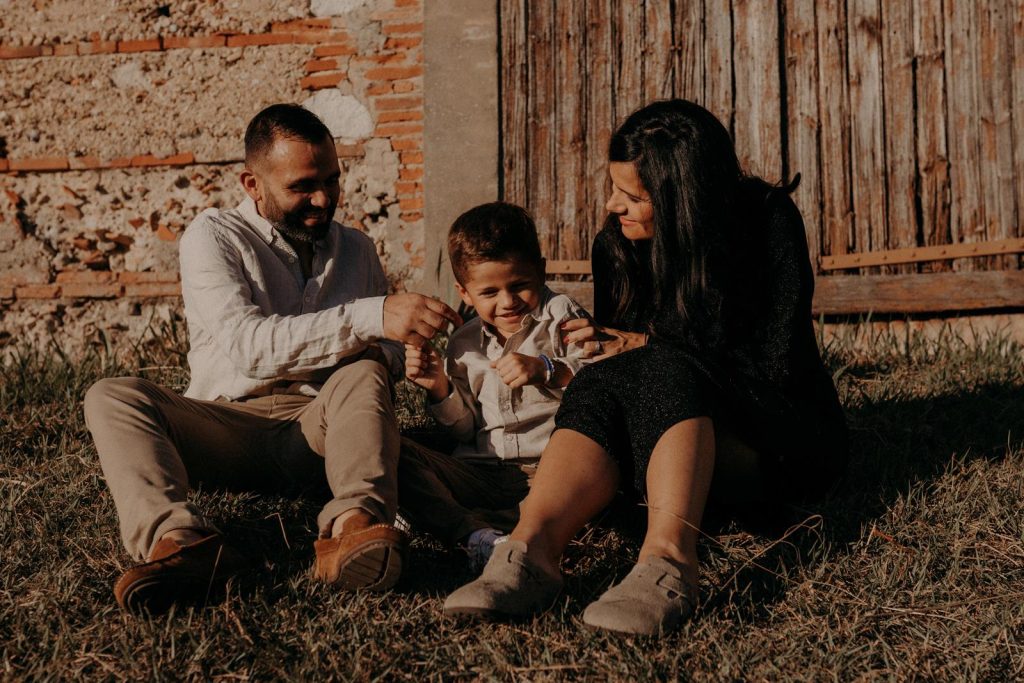
<instances>
[{"instance_id":1,"label":"bearded man in light linen shirt and tan trousers sitting on grass","mask_svg":"<svg viewBox=\"0 0 1024 683\"><path fill-rule=\"evenodd\" d=\"M407 545L396 529L399 436L391 380L401 345L458 314L387 294L373 242L333 221L340 195L327 127L297 104L246 130L249 198L208 209L181 239L191 383L184 396L137 378L86 394L125 547L145 561L115 584L129 610L203 599L244 568L189 486L330 487L314 573L343 589L390 588Z\"/></svg>"}]
</instances>

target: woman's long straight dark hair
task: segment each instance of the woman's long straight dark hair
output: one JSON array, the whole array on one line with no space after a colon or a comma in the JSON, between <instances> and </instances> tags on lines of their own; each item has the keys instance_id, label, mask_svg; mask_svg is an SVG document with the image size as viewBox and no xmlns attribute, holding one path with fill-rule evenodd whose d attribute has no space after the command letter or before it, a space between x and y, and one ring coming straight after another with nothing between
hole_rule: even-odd
<instances>
[{"instance_id":1,"label":"woman's long straight dark hair","mask_svg":"<svg viewBox=\"0 0 1024 683\"><path fill-rule=\"evenodd\" d=\"M744 177L725 127L684 99L653 102L630 115L611 137L608 160L634 164L654 214L649 246L630 243L617 225L608 240L609 257L618 266L611 287L615 317L646 309L654 335L675 337L682 330L691 340L696 335L715 343L729 271L740 266L730 264L729 255L748 251L734 249L742 239L746 190L758 185L767 199L772 186Z\"/></svg>"}]
</instances>

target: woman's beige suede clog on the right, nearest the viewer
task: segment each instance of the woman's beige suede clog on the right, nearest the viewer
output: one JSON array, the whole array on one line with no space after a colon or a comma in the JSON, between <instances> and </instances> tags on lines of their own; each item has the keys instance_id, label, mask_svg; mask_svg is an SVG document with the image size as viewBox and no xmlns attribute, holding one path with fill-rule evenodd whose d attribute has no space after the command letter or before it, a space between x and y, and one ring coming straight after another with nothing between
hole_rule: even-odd
<instances>
[{"instance_id":1,"label":"woman's beige suede clog on the right, nearest the viewer","mask_svg":"<svg viewBox=\"0 0 1024 683\"><path fill-rule=\"evenodd\" d=\"M648 557L584 610L583 623L613 633L657 636L693 613L697 592L673 562Z\"/></svg>"}]
</instances>

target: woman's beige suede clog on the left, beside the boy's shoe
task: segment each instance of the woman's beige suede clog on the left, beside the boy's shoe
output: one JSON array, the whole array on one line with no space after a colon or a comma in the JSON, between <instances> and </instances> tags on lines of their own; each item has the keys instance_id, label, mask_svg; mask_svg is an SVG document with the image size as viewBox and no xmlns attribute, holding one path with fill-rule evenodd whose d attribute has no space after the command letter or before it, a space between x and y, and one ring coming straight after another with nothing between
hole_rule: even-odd
<instances>
[{"instance_id":1,"label":"woman's beige suede clog on the left, beside the boy's shoe","mask_svg":"<svg viewBox=\"0 0 1024 683\"><path fill-rule=\"evenodd\" d=\"M444 601L444 613L485 620L530 616L551 607L562 590L561 574L550 574L526 556L526 544L506 541L476 581Z\"/></svg>"}]
</instances>

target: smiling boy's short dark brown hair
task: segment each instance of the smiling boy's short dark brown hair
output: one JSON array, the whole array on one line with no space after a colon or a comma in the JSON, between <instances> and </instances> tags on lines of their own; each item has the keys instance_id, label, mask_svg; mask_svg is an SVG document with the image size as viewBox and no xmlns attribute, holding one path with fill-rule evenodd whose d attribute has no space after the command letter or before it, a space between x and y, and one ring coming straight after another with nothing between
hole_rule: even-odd
<instances>
[{"instance_id":1,"label":"smiling boy's short dark brown hair","mask_svg":"<svg viewBox=\"0 0 1024 683\"><path fill-rule=\"evenodd\" d=\"M463 286L469 267L483 261L520 260L544 268L532 217L506 202L481 204L456 218L449 230L449 259Z\"/></svg>"}]
</instances>

